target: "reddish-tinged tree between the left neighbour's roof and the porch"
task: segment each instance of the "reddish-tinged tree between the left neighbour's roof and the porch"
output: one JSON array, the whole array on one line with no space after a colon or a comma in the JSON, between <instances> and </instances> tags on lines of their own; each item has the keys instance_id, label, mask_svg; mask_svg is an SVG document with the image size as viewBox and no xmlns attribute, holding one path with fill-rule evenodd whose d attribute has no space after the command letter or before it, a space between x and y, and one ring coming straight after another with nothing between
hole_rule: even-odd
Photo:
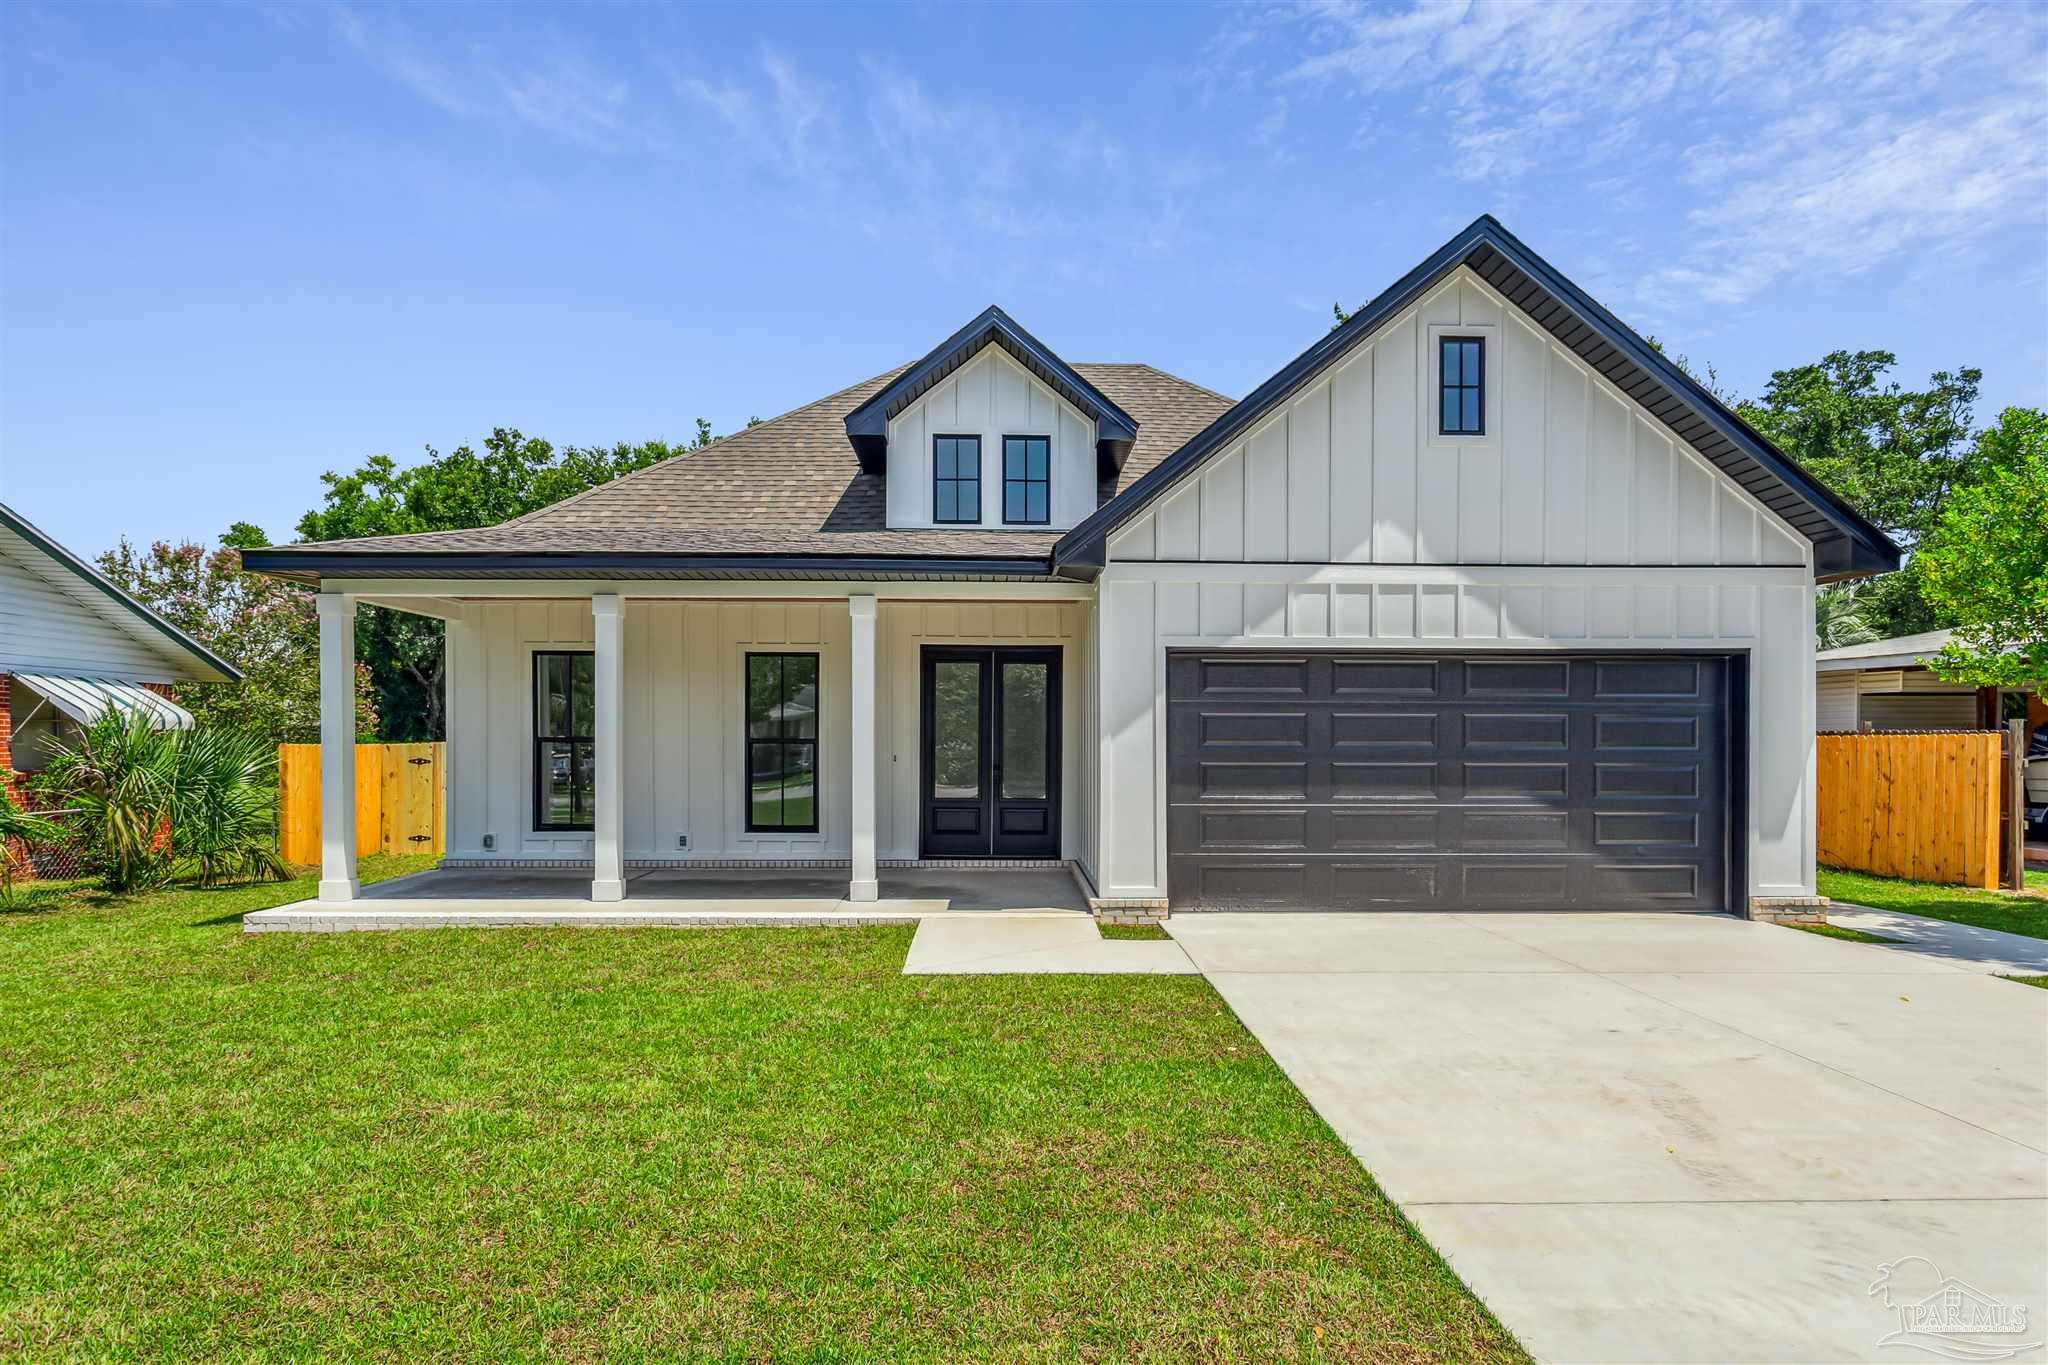
<instances>
[{"instance_id":1,"label":"reddish-tinged tree between the left neighbour's roof and the porch","mask_svg":"<svg viewBox=\"0 0 2048 1365\"><path fill-rule=\"evenodd\" d=\"M98 557L100 571L170 624L242 669L240 684L178 684L178 702L207 726L260 735L266 743L319 739L319 616L297 583L242 571L233 546L264 544L260 528L236 522L227 544L127 538ZM377 733L369 669L356 665L356 731Z\"/></svg>"}]
</instances>

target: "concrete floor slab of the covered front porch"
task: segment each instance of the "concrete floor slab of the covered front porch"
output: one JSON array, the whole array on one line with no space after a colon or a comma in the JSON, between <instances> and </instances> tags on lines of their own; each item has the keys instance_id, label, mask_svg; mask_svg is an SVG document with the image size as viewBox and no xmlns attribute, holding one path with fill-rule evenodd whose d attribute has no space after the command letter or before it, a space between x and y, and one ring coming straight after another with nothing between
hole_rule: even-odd
<instances>
[{"instance_id":1,"label":"concrete floor slab of the covered front porch","mask_svg":"<svg viewBox=\"0 0 2048 1365\"><path fill-rule=\"evenodd\" d=\"M297 900L244 917L248 933L459 925L895 925L926 915L1085 917L1067 868L883 868L881 898L846 898L842 868L649 868L627 898L590 898L578 868L436 868L356 900Z\"/></svg>"}]
</instances>

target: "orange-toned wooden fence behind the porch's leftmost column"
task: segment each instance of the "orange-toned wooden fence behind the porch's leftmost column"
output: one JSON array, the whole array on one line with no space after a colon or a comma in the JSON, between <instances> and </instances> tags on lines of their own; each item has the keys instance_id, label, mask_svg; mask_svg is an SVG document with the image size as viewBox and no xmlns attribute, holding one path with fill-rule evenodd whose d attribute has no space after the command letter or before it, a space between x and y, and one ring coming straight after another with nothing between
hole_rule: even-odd
<instances>
[{"instance_id":1,"label":"orange-toned wooden fence behind the porch's leftmost column","mask_svg":"<svg viewBox=\"0 0 2048 1365\"><path fill-rule=\"evenodd\" d=\"M356 745L356 853L440 853L446 745ZM319 864L319 745L276 747L276 847Z\"/></svg>"}]
</instances>

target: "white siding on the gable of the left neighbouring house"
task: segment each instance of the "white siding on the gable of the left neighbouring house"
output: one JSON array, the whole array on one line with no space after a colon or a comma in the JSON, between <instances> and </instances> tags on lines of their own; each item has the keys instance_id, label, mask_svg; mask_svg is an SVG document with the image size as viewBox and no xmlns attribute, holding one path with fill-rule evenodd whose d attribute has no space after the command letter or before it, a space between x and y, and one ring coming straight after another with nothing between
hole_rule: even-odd
<instances>
[{"instance_id":1,"label":"white siding on the gable of the left neighbouring house","mask_svg":"<svg viewBox=\"0 0 2048 1365\"><path fill-rule=\"evenodd\" d=\"M121 681L199 677L197 663L98 587L0 526L0 673Z\"/></svg>"}]
</instances>

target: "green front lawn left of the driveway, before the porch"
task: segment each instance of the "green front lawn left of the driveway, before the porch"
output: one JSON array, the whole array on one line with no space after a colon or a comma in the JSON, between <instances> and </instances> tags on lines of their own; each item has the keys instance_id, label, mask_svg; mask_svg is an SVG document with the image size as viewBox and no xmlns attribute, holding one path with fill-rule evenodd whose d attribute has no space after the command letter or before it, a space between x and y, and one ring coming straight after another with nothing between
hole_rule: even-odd
<instances>
[{"instance_id":1,"label":"green front lawn left of the driveway, before the porch","mask_svg":"<svg viewBox=\"0 0 2048 1365\"><path fill-rule=\"evenodd\" d=\"M0 1355L1522 1359L1200 978L309 890L0 915Z\"/></svg>"}]
</instances>

